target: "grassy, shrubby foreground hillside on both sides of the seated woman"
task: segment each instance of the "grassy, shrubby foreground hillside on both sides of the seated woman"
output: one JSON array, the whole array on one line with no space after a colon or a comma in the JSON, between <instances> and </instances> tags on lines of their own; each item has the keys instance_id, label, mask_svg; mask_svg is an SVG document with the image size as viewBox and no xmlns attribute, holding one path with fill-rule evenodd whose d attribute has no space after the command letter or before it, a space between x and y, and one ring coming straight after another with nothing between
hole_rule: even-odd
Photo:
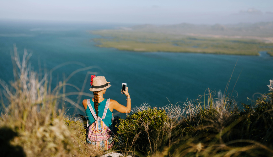
<instances>
[{"instance_id":1,"label":"grassy, shrubby foreground hillside on both sides of the seated woman","mask_svg":"<svg viewBox=\"0 0 273 157\"><path fill-rule=\"evenodd\" d=\"M6 84L0 79L0 154L92 157L108 153L87 144L83 124L58 107L62 98L70 101L60 93L66 83L49 89L50 74L40 78L32 71L26 51L22 61L16 47L14 54L15 81ZM236 102L228 86L223 94L207 89L195 101L163 108L144 104L120 119L110 151L125 156L271 157L273 80L268 87L269 93L249 104Z\"/></svg>"}]
</instances>

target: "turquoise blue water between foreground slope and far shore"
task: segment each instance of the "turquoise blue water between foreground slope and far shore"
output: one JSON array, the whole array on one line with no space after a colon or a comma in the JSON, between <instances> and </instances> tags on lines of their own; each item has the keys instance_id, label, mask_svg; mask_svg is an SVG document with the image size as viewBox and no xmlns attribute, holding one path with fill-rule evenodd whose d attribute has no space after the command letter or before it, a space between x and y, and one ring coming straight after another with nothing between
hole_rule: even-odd
<instances>
[{"instance_id":1,"label":"turquoise blue water between foreground slope and far shore","mask_svg":"<svg viewBox=\"0 0 273 157\"><path fill-rule=\"evenodd\" d=\"M125 25L0 22L0 78L7 82L13 79L10 59L13 43L16 43L21 58L24 48L33 53L30 61L36 71L39 70L38 58L42 67L46 65L47 69L67 61L82 63L57 69L53 73L53 84L62 80L63 74L67 77L78 68L92 65L100 67L87 71L97 72L97 76L105 76L111 82L112 86L107 89L105 97L126 105L126 96L120 94L120 89L122 83L127 83L132 107L145 102L151 106L164 106L169 104L167 98L171 103L194 100L197 95L204 94L207 88L223 91L237 59L229 90L232 90L242 71L235 86L238 92L235 99L238 102L250 103L247 97L252 98L256 92L266 93L266 85L273 78L273 57L264 52L261 56L232 56L119 51L94 46L92 38L99 35L87 32L117 26ZM87 71L77 73L68 83L81 89ZM89 87L88 79L84 92L91 93ZM67 87L66 92L69 91L75 89ZM77 101L77 96L70 98ZM83 99L88 97L83 96L81 101Z\"/></svg>"}]
</instances>

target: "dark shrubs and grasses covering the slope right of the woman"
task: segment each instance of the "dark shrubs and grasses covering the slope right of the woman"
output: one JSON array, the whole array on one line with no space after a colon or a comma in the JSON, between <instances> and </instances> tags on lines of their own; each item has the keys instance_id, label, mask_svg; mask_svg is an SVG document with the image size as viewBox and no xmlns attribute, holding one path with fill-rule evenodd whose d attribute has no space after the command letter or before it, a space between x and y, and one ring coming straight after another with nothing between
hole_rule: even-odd
<instances>
[{"instance_id":1,"label":"dark shrubs and grasses covering the slope right of the woman","mask_svg":"<svg viewBox=\"0 0 273 157\"><path fill-rule=\"evenodd\" d=\"M138 110L137 114L134 112L121 120L119 137L123 140L123 147L118 149L140 151L142 155L148 152L149 156L272 156L272 89L252 104L242 104L242 110L237 108L237 103L230 96L232 93L227 93L227 90L218 98L215 98L216 95L222 94L208 89L207 94L198 96L195 104L191 101L177 106L169 104L159 110L167 115L164 119L155 120L151 115L157 114L158 110L147 106ZM138 116L153 119L157 126L164 126L162 129L167 134L158 140L160 145L152 140L153 149L149 150L147 141L148 138L156 138L153 135L162 130L131 132L147 126ZM150 125L153 126L152 123Z\"/></svg>"}]
</instances>

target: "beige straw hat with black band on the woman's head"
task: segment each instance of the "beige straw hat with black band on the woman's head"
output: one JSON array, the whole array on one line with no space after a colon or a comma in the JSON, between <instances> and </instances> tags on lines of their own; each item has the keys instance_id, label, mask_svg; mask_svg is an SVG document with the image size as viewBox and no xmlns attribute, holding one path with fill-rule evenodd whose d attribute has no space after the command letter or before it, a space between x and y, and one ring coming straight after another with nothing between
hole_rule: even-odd
<instances>
[{"instance_id":1,"label":"beige straw hat with black band on the woman's head","mask_svg":"<svg viewBox=\"0 0 273 157\"><path fill-rule=\"evenodd\" d=\"M93 83L89 89L91 92L97 92L109 88L111 85L107 82L104 76L96 76L93 78Z\"/></svg>"}]
</instances>

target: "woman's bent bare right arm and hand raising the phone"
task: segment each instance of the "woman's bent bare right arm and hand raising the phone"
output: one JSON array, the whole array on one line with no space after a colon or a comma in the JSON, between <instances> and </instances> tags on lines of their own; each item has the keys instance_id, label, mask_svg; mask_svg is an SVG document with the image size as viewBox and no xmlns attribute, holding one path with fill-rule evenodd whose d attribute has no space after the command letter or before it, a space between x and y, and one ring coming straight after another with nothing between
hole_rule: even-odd
<instances>
[{"instance_id":1,"label":"woman's bent bare right arm and hand raising the phone","mask_svg":"<svg viewBox=\"0 0 273 157\"><path fill-rule=\"evenodd\" d=\"M122 92L126 95L127 98L130 97L129 92L128 92L128 87L126 88L125 91L123 90ZM109 105L110 105L111 109L115 109L121 113L130 113L130 111L131 111L131 99L130 98L127 99L126 107L121 105L120 103L118 103L116 100L110 100ZM112 112L113 112L113 110L112 110Z\"/></svg>"}]
</instances>

